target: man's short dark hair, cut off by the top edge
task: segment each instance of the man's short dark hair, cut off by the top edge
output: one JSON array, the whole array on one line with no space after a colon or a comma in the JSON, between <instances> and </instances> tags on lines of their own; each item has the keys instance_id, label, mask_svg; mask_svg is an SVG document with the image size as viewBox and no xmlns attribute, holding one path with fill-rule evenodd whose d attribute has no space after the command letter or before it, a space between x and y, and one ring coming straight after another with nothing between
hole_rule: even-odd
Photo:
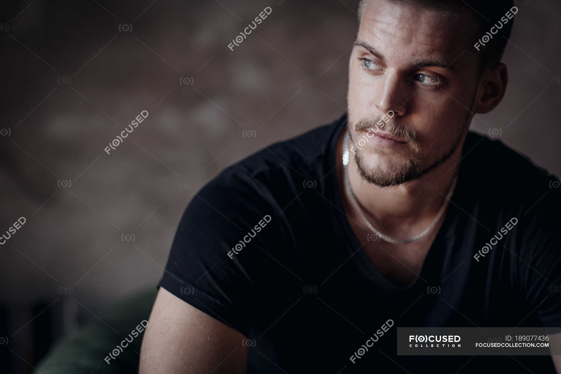
<instances>
[{"instance_id":1,"label":"man's short dark hair, cut off by the top edge","mask_svg":"<svg viewBox=\"0 0 561 374\"><path fill-rule=\"evenodd\" d=\"M513 0L387 0L389 2L405 4L410 6L419 6L429 8L440 12L444 16L462 16L468 15L473 21L470 35L470 48L475 47L478 40L484 38L492 38L485 42L485 45L479 45L476 50L479 56L479 64L477 65L477 77L481 77L482 73L490 67L498 64L503 57L504 48L511 36L512 25L514 19L503 18L507 12L514 7ZM360 0L358 4L358 22L362 19L362 14L366 8L368 0ZM504 22L504 20L507 20ZM499 29L500 26L500 29ZM498 32L491 34L490 30L495 27ZM489 34L486 34L489 33Z\"/></svg>"}]
</instances>

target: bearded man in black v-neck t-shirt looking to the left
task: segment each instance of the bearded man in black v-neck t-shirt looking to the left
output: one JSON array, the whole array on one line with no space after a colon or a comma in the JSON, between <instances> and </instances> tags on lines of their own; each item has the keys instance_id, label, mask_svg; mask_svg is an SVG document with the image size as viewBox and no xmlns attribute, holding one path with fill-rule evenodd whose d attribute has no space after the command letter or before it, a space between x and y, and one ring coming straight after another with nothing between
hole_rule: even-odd
<instances>
[{"instance_id":1,"label":"bearded man in black v-neck t-shirt looking to the left","mask_svg":"<svg viewBox=\"0 0 561 374\"><path fill-rule=\"evenodd\" d=\"M398 327L561 326L559 181L468 131L503 98L516 11L362 1L347 114L193 198L140 373L555 373L547 355L396 352Z\"/></svg>"}]
</instances>

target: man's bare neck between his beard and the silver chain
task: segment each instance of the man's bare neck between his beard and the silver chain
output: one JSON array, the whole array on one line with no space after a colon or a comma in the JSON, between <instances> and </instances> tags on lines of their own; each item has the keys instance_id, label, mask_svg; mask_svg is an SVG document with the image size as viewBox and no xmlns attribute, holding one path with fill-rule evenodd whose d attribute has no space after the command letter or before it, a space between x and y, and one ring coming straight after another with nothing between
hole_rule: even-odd
<instances>
[{"instance_id":1,"label":"man's bare neck between his beard and the silver chain","mask_svg":"<svg viewBox=\"0 0 561 374\"><path fill-rule=\"evenodd\" d=\"M344 186L343 165L340 162L343 153L343 137L344 131L337 141L335 153L337 174L340 178L339 186ZM362 179L357 169L354 154L350 152L347 165L349 182L358 204L360 204L371 223L378 229L385 227L383 232L403 231L402 228L392 229L396 225L408 227L415 231L419 227L430 224L430 221L434 219L440 207L445 203L445 195L447 195L453 179L458 173L464 141L465 135L452 156L424 176L399 186L384 188ZM432 188L437 183L438 188L433 190ZM343 188L341 192L344 192L343 197L348 201L350 195L346 188Z\"/></svg>"}]
</instances>

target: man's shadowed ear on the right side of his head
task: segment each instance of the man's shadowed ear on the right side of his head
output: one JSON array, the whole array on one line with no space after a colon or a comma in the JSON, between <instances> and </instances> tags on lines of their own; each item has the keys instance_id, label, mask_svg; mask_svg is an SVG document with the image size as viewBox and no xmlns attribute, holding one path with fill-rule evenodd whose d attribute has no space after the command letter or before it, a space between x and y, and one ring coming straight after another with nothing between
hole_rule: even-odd
<instances>
[{"instance_id":1,"label":"man's shadowed ear on the right side of his head","mask_svg":"<svg viewBox=\"0 0 561 374\"><path fill-rule=\"evenodd\" d=\"M507 90L508 70L504 63L491 66L481 77L475 100L475 113L489 113L499 105Z\"/></svg>"}]
</instances>

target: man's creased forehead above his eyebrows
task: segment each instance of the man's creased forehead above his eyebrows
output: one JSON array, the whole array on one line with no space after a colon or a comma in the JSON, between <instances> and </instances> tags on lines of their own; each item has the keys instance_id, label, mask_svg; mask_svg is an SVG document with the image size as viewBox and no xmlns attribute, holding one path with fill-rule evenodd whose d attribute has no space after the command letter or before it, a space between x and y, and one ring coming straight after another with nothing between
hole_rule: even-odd
<instances>
[{"instance_id":1,"label":"man's creased forehead above his eyebrows","mask_svg":"<svg viewBox=\"0 0 561 374\"><path fill-rule=\"evenodd\" d=\"M468 17L378 0L367 4L357 36L380 48L392 46L456 58L468 48L468 28Z\"/></svg>"}]
</instances>

